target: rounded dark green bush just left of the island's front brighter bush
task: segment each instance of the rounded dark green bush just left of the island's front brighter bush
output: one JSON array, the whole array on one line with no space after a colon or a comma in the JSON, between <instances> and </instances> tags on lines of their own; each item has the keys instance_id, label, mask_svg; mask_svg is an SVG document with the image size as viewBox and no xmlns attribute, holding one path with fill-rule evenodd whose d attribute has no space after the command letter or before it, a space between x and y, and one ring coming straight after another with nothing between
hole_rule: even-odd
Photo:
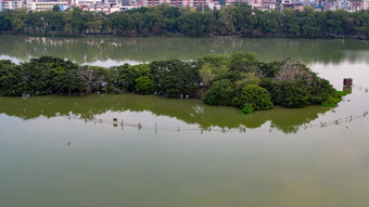
<instances>
[{"instance_id":1,"label":"rounded dark green bush just left of the island's front brighter bush","mask_svg":"<svg viewBox=\"0 0 369 207\"><path fill-rule=\"evenodd\" d=\"M233 105L237 94L232 82L227 79L215 81L204 94L204 103L208 105Z\"/></svg>"}]
</instances>

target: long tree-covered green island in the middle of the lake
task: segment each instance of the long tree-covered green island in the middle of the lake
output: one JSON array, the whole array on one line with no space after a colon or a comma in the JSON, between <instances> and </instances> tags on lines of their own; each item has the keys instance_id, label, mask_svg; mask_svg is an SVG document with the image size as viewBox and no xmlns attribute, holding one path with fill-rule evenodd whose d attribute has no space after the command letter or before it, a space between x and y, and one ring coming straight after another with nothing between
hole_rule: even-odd
<instances>
[{"instance_id":1,"label":"long tree-covered green island in the middle of the lake","mask_svg":"<svg viewBox=\"0 0 369 207\"><path fill-rule=\"evenodd\" d=\"M202 99L208 105L253 111L335 106L345 95L300 61L260 62L255 53L209 54L195 61L153 61L110 68L53 56L0 61L0 95L155 94Z\"/></svg>"}]
</instances>

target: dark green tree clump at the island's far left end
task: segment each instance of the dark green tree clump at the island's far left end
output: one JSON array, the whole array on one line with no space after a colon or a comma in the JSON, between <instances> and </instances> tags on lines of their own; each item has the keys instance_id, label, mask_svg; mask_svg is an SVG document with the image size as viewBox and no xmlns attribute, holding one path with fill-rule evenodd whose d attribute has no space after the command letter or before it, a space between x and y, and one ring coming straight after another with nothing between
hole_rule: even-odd
<instances>
[{"instance_id":1,"label":"dark green tree clump at the island's far left end","mask_svg":"<svg viewBox=\"0 0 369 207\"><path fill-rule=\"evenodd\" d=\"M1 93L4 95L42 95L80 93L84 82L78 65L58 57L42 56L21 65L1 66Z\"/></svg>"}]
</instances>

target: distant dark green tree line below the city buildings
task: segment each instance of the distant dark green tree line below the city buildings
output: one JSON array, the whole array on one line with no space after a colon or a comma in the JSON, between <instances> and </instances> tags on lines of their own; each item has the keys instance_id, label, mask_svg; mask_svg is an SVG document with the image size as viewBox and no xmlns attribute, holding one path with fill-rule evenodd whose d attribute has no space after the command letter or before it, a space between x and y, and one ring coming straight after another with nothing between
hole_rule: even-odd
<instances>
[{"instance_id":1,"label":"distant dark green tree line below the city buildings","mask_svg":"<svg viewBox=\"0 0 369 207\"><path fill-rule=\"evenodd\" d=\"M247 4L221 10L191 10L167 4L112 14L73 10L0 12L0 31L14 34L86 36L298 36L331 37L369 35L369 11L253 10Z\"/></svg>"}]
</instances>

